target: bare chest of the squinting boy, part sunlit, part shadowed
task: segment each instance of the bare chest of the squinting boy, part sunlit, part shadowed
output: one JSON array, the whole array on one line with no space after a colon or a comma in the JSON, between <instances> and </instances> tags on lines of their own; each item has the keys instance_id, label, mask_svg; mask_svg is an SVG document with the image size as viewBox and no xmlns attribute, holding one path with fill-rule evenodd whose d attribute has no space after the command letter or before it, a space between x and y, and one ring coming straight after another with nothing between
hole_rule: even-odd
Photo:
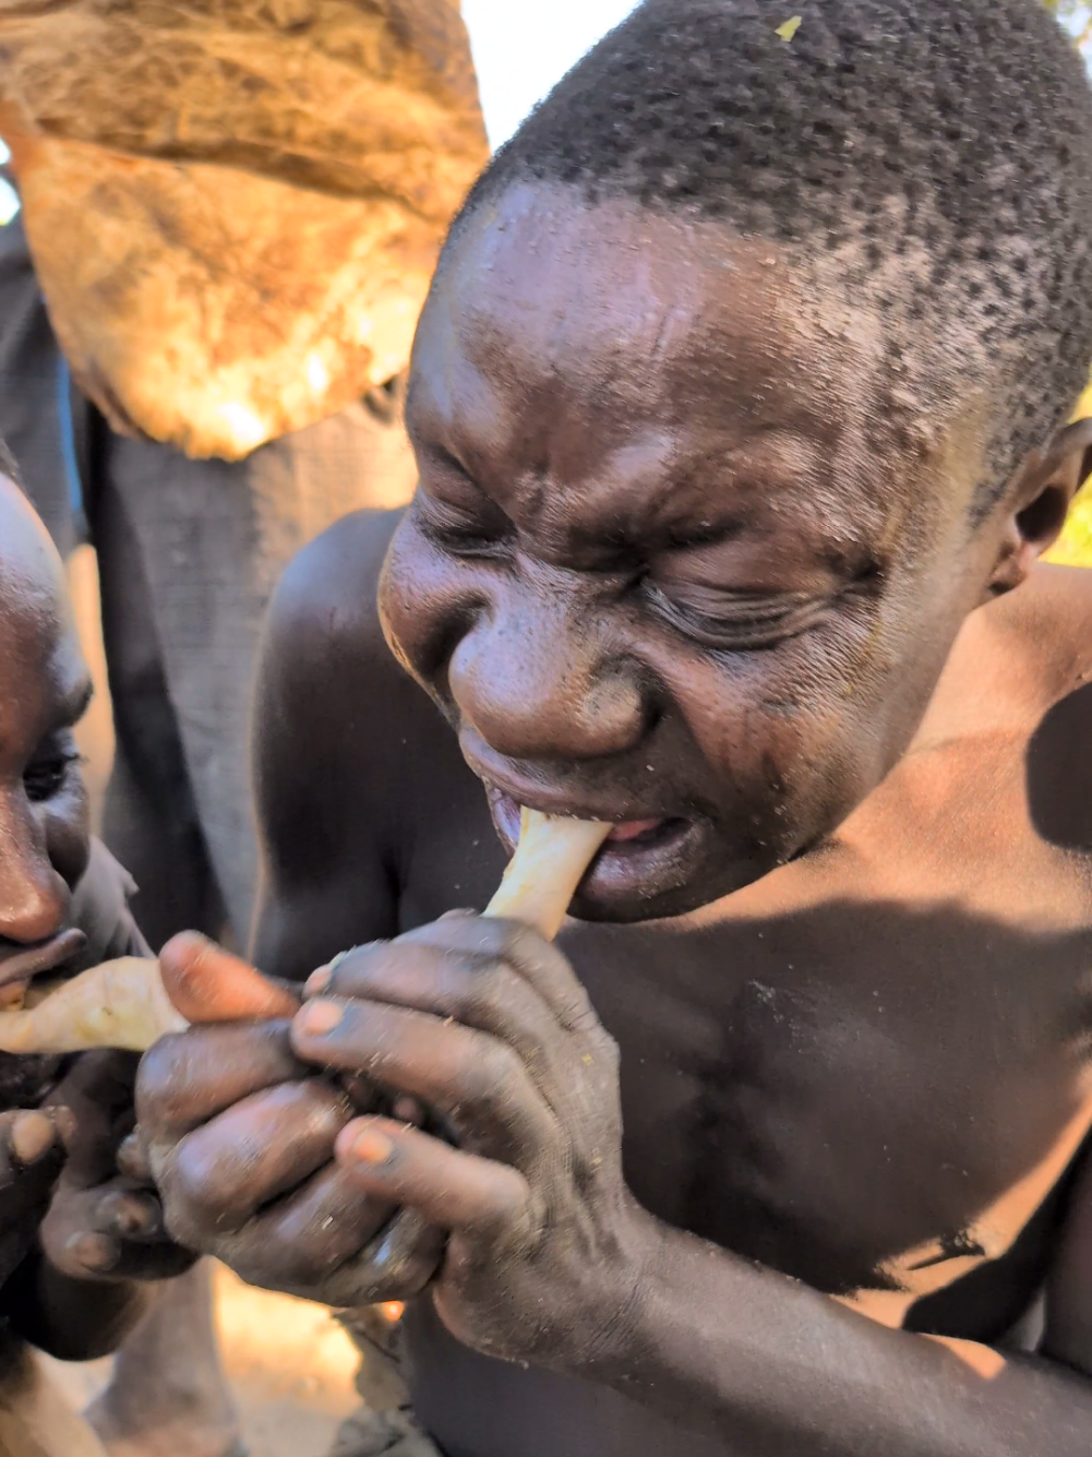
<instances>
[{"instance_id":1,"label":"bare chest of the squinting boy, part sunlit, part shadowed","mask_svg":"<svg viewBox=\"0 0 1092 1457\"><path fill-rule=\"evenodd\" d=\"M1092 874L1042 833L1025 749L911 755L830 847L721 905L562 934L620 1045L649 1209L831 1292L907 1263L943 1284L1019 1236L1092 1122ZM488 898L485 807L463 825L414 919Z\"/></svg>"}]
</instances>

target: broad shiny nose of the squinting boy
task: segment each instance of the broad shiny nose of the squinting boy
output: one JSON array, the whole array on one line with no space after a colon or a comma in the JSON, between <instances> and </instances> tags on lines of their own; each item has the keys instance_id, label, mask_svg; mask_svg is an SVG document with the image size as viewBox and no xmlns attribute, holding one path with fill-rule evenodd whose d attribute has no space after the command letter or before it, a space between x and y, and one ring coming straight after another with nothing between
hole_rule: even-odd
<instances>
[{"instance_id":1,"label":"broad shiny nose of the squinting boy","mask_svg":"<svg viewBox=\"0 0 1092 1457\"><path fill-rule=\"evenodd\" d=\"M635 747L648 711L635 664L607 661L591 616L553 602L482 615L451 656L463 720L510 759L600 759ZM616 657L616 654L610 654Z\"/></svg>"}]
</instances>

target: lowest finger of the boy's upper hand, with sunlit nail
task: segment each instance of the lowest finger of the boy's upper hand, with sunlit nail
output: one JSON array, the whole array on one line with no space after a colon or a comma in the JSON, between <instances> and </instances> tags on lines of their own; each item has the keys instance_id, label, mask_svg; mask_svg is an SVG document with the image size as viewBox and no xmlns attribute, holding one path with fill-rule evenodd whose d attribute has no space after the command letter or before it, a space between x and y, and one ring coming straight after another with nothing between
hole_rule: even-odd
<instances>
[{"instance_id":1,"label":"lowest finger of the boy's upper hand, with sunlit nail","mask_svg":"<svg viewBox=\"0 0 1092 1457\"><path fill-rule=\"evenodd\" d=\"M360 1118L344 1128L336 1157L361 1187L409 1205L437 1228L501 1228L530 1205L527 1180L515 1169L387 1118Z\"/></svg>"}]
</instances>

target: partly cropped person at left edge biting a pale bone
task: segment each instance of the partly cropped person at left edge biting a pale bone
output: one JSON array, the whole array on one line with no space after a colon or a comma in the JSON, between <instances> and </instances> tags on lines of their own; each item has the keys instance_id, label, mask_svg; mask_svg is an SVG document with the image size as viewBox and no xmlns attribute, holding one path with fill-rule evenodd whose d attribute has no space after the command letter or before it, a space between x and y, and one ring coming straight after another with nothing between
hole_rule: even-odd
<instances>
[{"instance_id":1,"label":"partly cropped person at left edge biting a pale bone","mask_svg":"<svg viewBox=\"0 0 1092 1457\"><path fill-rule=\"evenodd\" d=\"M64 568L0 457L0 1004L38 973L149 956L132 884L87 833L73 726L90 698ZM0 1053L0 1451L100 1454L47 1396L26 1342L64 1359L112 1351L147 1311L150 1279L194 1256L154 1199L119 1174L135 1059Z\"/></svg>"}]
</instances>

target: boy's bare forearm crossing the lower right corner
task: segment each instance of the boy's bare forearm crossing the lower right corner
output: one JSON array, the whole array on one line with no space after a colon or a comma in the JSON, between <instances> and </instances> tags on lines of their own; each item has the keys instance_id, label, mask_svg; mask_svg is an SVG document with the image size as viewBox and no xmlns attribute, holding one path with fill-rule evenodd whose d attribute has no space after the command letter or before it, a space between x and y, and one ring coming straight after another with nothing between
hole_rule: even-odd
<instances>
[{"instance_id":1,"label":"boy's bare forearm crossing the lower right corner","mask_svg":"<svg viewBox=\"0 0 1092 1457\"><path fill-rule=\"evenodd\" d=\"M1086 1457L1092 1383L1010 1359L989 1378L938 1342L660 1227L619 1329L569 1367L740 1457ZM996 1364L996 1362L994 1362Z\"/></svg>"}]
</instances>

